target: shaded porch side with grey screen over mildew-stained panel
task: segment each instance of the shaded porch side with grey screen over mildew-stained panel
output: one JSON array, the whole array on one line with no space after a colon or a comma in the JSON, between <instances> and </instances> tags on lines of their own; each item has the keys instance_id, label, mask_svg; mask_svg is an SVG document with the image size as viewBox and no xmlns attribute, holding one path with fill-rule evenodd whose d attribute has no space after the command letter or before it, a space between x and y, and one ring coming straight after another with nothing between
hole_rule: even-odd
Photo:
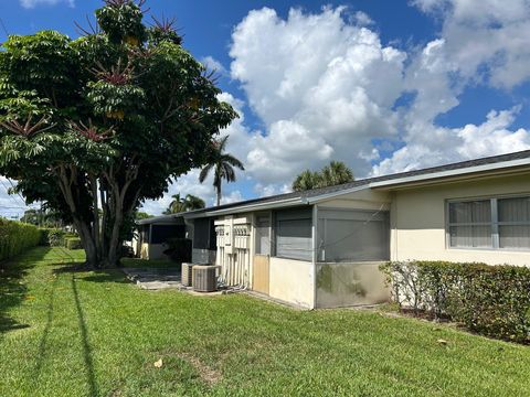
<instances>
[{"instance_id":1,"label":"shaded porch side with grey screen over mildew-stained panel","mask_svg":"<svg viewBox=\"0 0 530 397\"><path fill-rule=\"evenodd\" d=\"M319 208L316 307L388 300L379 265L390 259L390 215L382 210Z\"/></svg>"}]
</instances>

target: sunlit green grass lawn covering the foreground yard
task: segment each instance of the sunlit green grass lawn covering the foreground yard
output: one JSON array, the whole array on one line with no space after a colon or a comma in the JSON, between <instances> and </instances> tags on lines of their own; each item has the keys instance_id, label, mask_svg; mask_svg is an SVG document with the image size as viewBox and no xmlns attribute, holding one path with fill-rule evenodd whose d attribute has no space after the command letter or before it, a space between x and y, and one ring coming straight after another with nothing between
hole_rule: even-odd
<instances>
[{"instance_id":1,"label":"sunlit green grass lawn covering the foreground yard","mask_svg":"<svg viewBox=\"0 0 530 397\"><path fill-rule=\"evenodd\" d=\"M38 248L0 273L0 396L530 394L526 346L368 310L146 291L73 260Z\"/></svg>"}]
</instances>

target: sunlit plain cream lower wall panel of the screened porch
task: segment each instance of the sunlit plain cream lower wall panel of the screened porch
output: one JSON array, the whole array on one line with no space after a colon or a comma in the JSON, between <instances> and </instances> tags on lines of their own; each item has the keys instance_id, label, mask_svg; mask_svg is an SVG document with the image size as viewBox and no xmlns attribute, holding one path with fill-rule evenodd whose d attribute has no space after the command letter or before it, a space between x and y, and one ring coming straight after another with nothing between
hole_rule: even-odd
<instances>
[{"instance_id":1,"label":"sunlit plain cream lower wall panel of the screened porch","mask_svg":"<svg viewBox=\"0 0 530 397\"><path fill-rule=\"evenodd\" d=\"M272 257L269 296L306 309L315 308L314 271L310 261Z\"/></svg>"}]
</instances>

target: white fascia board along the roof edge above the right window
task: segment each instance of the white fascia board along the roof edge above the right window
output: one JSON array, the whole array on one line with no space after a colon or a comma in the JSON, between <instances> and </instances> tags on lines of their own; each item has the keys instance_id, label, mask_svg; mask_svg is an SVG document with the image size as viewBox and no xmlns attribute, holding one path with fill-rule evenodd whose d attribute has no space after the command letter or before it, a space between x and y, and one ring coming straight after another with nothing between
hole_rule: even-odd
<instances>
[{"instance_id":1,"label":"white fascia board along the roof edge above the right window","mask_svg":"<svg viewBox=\"0 0 530 397\"><path fill-rule=\"evenodd\" d=\"M393 186L393 185L400 185L400 184L412 183L412 182L422 182L422 181L428 181L428 180L435 180L435 179L442 179L442 178L467 175L467 174L477 173L477 172L508 170L511 168L523 167L523 165L530 165L530 158L504 161L504 162L492 163L492 164L469 167L465 169L439 171L439 172L426 173L426 174L414 175L414 176L391 179L391 180L381 181L381 182L372 182L370 183L369 187L375 189L375 187Z\"/></svg>"}]
</instances>

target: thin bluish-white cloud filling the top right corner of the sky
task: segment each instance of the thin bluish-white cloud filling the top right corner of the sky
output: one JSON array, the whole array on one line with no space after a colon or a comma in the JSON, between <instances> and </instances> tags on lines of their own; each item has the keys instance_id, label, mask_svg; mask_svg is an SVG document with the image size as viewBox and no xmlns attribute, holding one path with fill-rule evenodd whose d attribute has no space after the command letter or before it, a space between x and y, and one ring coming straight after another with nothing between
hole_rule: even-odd
<instances>
[{"instance_id":1,"label":"thin bluish-white cloud filling the top right corner of the sky","mask_svg":"<svg viewBox=\"0 0 530 397\"><path fill-rule=\"evenodd\" d=\"M530 78L530 1L416 0L443 18L447 60L462 77L511 88Z\"/></svg>"}]
</instances>

